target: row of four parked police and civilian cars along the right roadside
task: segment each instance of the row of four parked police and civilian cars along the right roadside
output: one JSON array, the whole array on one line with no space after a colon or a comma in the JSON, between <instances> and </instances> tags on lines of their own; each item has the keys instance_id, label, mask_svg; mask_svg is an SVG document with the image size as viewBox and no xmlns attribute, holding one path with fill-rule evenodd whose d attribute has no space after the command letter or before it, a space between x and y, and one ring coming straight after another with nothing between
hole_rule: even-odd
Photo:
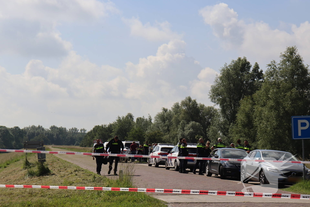
<instances>
[{"instance_id":1,"label":"row of four parked police and civilian cars along the right roadside","mask_svg":"<svg viewBox=\"0 0 310 207\"><path fill-rule=\"evenodd\" d=\"M188 143L189 157L197 157L197 144ZM165 169L173 168L179 171L179 159L169 158L178 156L178 146L172 144L159 143L150 155L167 156L163 158L149 158L148 166L165 165ZM213 174L219 175L221 179L226 177L241 178L241 181L258 181L260 184L279 183L288 185L299 182L303 176L303 164L292 164L283 162L258 162L256 160L286 160L298 161L298 159L289 152L275 150L254 150L249 154L241 149L219 148L212 151L210 158L232 158L244 159L248 161L228 161L228 160L207 160L205 165L206 176ZM193 172L196 160L188 160L187 168ZM308 177L310 169L308 171Z\"/></svg>"}]
</instances>

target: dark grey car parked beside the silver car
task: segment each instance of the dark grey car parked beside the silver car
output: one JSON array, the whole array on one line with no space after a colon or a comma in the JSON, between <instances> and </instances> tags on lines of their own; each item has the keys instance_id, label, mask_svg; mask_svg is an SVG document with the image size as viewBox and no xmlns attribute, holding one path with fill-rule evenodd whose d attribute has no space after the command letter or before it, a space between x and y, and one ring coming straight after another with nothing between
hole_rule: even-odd
<instances>
[{"instance_id":1,"label":"dark grey car parked beside the silver car","mask_svg":"<svg viewBox=\"0 0 310 207\"><path fill-rule=\"evenodd\" d=\"M243 159L248 155L244 150L235 148L219 148L215 149L210 158L234 158ZM241 161L217 161L208 160L206 163L206 175L212 176L212 174L220 175L221 179L225 177L240 177Z\"/></svg>"}]
</instances>

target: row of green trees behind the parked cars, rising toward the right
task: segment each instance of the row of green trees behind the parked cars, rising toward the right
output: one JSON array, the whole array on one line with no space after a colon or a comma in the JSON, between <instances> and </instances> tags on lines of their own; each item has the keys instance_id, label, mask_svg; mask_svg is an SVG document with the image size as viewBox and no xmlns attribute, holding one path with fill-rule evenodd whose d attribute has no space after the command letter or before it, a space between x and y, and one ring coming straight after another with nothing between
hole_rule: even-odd
<instances>
[{"instance_id":1,"label":"row of green trees behind the parked cars, rising toward the right","mask_svg":"<svg viewBox=\"0 0 310 207\"><path fill-rule=\"evenodd\" d=\"M219 108L186 97L171 109L162 108L154 120L131 113L110 124L97 125L80 146L94 139L177 143L179 138L197 142L200 137L215 143L248 140L253 149L289 151L301 155L301 141L292 140L291 116L310 115L310 72L296 47L287 47L280 61L271 61L265 73L246 57L232 60L219 70L209 92ZM207 96L207 94L206 94ZM306 156L310 142L305 140Z\"/></svg>"}]
</instances>

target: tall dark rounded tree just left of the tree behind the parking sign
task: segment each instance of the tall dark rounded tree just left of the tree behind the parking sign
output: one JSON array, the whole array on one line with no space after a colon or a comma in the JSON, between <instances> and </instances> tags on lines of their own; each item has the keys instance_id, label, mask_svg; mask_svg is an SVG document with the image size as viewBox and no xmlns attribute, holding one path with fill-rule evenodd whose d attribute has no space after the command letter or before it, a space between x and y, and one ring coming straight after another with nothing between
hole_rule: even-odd
<instances>
[{"instance_id":1,"label":"tall dark rounded tree just left of the tree behind the parking sign","mask_svg":"<svg viewBox=\"0 0 310 207\"><path fill-rule=\"evenodd\" d=\"M231 131L237 118L240 101L254 94L262 83L263 71L259 70L257 63L252 68L246 57L232 60L229 65L225 64L220 69L220 75L215 78L209 93L211 101L220 107L217 120L213 121L215 125L208 133L210 139L214 140L215 136L219 136L228 143L233 141Z\"/></svg>"}]
</instances>

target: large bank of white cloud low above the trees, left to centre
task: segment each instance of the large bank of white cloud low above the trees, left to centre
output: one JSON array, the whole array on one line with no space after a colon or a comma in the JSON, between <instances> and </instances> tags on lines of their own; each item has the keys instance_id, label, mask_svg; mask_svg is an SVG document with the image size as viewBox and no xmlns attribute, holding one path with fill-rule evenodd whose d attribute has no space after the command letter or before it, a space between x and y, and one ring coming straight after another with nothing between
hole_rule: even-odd
<instances>
[{"instance_id":1,"label":"large bank of white cloud low above the trees, left to centre","mask_svg":"<svg viewBox=\"0 0 310 207\"><path fill-rule=\"evenodd\" d=\"M96 65L74 51L57 68L30 60L23 74L13 75L0 66L0 99L5 100L0 105L6 109L0 110L5 117L0 125L90 130L128 112L154 117L186 96L208 104L208 81L215 72L186 56L185 45L181 40L162 44L154 56L128 62L124 70Z\"/></svg>"}]
</instances>

